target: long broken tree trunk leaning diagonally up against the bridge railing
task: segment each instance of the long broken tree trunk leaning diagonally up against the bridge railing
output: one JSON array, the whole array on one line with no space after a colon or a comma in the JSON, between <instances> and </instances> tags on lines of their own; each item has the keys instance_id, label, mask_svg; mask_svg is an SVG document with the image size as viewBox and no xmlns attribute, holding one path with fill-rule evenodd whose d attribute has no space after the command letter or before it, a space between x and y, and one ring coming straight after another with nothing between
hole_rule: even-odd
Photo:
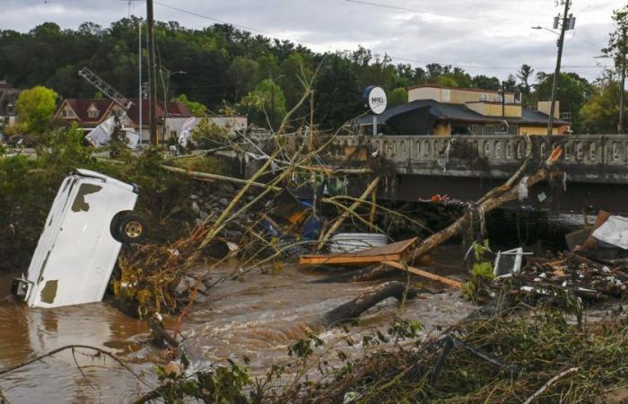
<instances>
[{"instance_id":1,"label":"long broken tree trunk leaning diagonally up against the bridge railing","mask_svg":"<svg viewBox=\"0 0 628 404\"><path fill-rule=\"evenodd\" d=\"M528 165L528 159L531 154L531 144L528 141L528 153L526 155L526 159L521 164L521 167L515 174L510 177L510 179L502 186L489 191L483 198L480 198L475 204L475 210L481 211L484 214L492 211L493 209L502 206L503 204L510 202L519 198L519 187L514 187L513 185L518 180L519 176L522 175L523 171L525 171L526 166ZM534 174L528 177L526 182L526 186L528 188L533 187L537 183L545 180L554 167L554 163L558 161L561 154L563 153L563 148L558 146L554 149L550 157L545 161L544 166L536 171ZM450 224L445 229L441 230L438 233L432 234L427 239L423 240L413 251L414 257L419 257L429 250L432 250L434 247L440 245L442 242L448 241L450 238L454 237L458 233L461 233L469 224L471 223L473 211L471 209L467 210L467 212L462 215L456 222Z\"/></svg>"}]
</instances>

